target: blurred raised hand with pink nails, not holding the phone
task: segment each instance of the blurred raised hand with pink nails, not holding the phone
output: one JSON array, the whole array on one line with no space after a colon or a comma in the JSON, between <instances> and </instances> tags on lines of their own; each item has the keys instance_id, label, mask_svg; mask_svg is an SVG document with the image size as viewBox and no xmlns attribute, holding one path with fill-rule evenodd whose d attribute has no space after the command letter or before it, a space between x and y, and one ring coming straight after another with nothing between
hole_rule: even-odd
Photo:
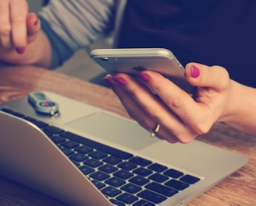
<instances>
[{"instance_id":1,"label":"blurred raised hand with pink nails, not holding the phone","mask_svg":"<svg viewBox=\"0 0 256 206\"><path fill-rule=\"evenodd\" d=\"M26 0L0 0L0 60L23 54L41 26L35 13L28 13Z\"/></svg>"}]
</instances>

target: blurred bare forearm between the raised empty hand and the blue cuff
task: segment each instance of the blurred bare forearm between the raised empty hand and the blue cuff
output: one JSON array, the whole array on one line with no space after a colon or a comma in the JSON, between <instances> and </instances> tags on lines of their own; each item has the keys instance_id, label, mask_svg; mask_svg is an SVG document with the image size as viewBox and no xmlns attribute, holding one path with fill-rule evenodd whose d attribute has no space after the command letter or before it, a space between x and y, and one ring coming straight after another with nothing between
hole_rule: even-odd
<instances>
[{"instance_id":1,"label":"blurred bare forearm between the raised empty hand and the blue cuff","mask_svg":"<svg viewBox=\"0 0 256 206\"><path fill-rule=\"evenodd\" d=\"M48 38L40 31L37 38L27 44L23 54L18 54L16 50L9 49L9 51L1 54L1 61L14 65L37 65L48 68L52 61L52 49Z\"/></svg>"}]
</instances>

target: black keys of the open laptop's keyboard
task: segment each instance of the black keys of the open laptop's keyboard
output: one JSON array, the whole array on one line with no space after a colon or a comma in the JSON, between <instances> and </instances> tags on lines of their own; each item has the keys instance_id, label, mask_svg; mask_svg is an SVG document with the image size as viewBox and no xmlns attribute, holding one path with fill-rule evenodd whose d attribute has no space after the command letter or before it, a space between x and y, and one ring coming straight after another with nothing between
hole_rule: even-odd
<instances>
[{"instance_id":1,"label":"black keys of the open laptop's keyboard","mask_svg":"<svg viewBox=\"0 0 256 206\"><path fill-rule=\"evenodd\" d=\"M1 110L37 125L114 205L158 205L200 181L197 176L64 131L9 108Z\"/></svg>"}]
</instances>

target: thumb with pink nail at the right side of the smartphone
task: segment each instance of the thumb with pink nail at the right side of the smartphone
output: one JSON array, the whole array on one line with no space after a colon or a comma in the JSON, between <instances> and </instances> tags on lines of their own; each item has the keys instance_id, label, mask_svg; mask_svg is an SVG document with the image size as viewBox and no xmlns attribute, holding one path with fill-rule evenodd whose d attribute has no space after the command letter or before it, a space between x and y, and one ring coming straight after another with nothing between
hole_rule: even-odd
<instances>
[{"instance_id":1,"label":"thumb with pink nail at the right side of the smartphone","mask_svg":"<svg viewBox=\"0 0 256 206\"><path fill-rule=\"evenodd\" d=\"M186 65L186 78L193 86L209 87L215 90L225 89L229 84L229 73L225 68L194 62Z\"/></svg>"}]
</instances>

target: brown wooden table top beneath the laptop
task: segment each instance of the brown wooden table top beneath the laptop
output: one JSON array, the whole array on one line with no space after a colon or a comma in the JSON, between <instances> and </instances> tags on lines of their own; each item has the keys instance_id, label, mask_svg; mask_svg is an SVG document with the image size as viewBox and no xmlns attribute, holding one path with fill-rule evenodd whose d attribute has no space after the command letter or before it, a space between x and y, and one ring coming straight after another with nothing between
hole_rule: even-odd
<instances>
[{"instance_id":1,"label":"brown wooden table top beneath the laptop","mask_svg":"<svg viewBox=\"0 0 256 206\"><path fill-rule=\"evenodd\" d=\"M128 117L110 89L44 68L0 65L0 103L26 96L27 93L36 90L59 93ZM245 155L250 161L238 172L187 205L256 205L256 137L237 131L226 124L215 124L209 134L202 135L198 139ZM0 176L0 205L64 206L65 204Z\"/></svg>"}]
</instances>

